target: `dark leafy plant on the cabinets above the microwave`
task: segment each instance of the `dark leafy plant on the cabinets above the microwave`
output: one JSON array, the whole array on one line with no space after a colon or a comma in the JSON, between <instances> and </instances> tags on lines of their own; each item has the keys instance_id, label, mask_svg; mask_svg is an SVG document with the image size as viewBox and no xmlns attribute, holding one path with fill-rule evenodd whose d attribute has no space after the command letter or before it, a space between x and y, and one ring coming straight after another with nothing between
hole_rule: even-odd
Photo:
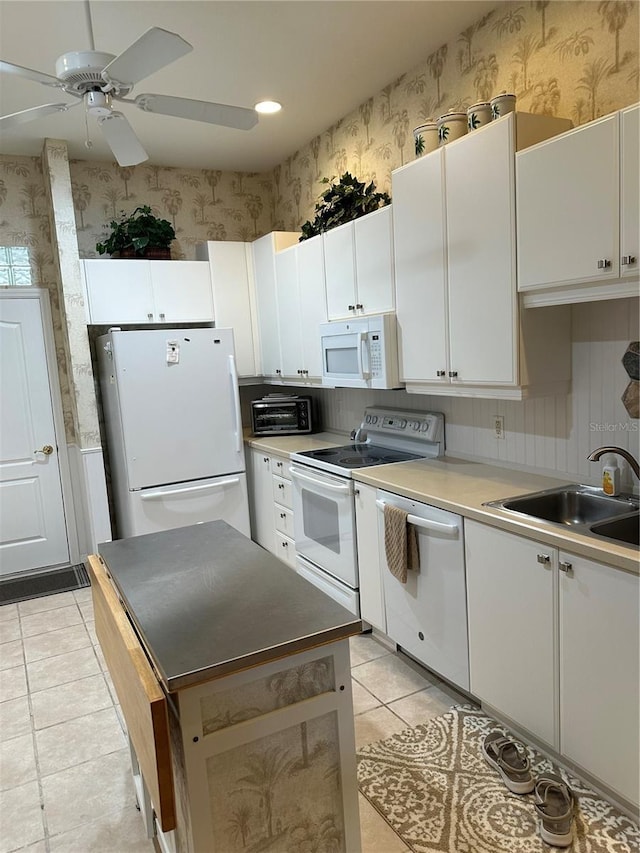
<instances>
[{"instance_id":1,"label":"dark leafy plant on the cabinets above the microwave","mask_svg":"<svg viewBox=\"0 0 640 853\"><path fill-rule=\"evenodd\" d=\"M329 184L329 188L320 196L313 220L307 220L300 228L300 240L315 237L323 231L391 204L391 197L387 193L377 192L373 181L365 184L349 172L345 172L337 183L335 177L323 178L322 183Z\"/></svg>"}]
</instances>

